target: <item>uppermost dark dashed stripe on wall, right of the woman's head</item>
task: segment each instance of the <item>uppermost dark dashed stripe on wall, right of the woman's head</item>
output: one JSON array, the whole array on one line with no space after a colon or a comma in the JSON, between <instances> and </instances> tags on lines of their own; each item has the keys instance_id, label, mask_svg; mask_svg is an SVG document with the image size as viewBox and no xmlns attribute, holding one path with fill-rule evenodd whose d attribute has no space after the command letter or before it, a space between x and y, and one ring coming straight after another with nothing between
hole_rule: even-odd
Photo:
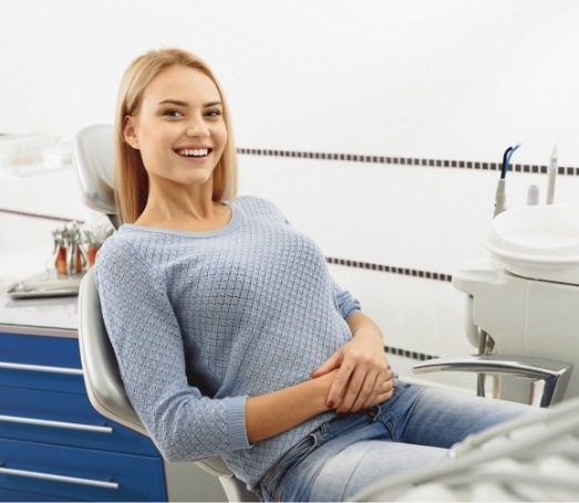
<instances>
[{"instance_id":1,"label":"uppermost dark dashed stripe on wall, right of the woman's head","mask_svg":"<svg viewBox=\"0 0 579 503\"><path fill-rule=\"evenodd\" d=\"M500 163L484 163L474 160L443 160L443 159L421 159L415 157L386 157L386 156L368 156L362 154L332 154L320 151L294 151L294 150L275 150L267 148L238 148L238 154L248 156L265 157L293 157L297 159L321 159L321 160L347 160L351 163L371 163L385 165L402 166L426 166L433 168L462 168L478 169L486 171L500 171ZM510 170L515 172L547 174L546 165L510 165ZM558 175L579 176L579 168L559 166Z\"/></svg>"}]
</instances>

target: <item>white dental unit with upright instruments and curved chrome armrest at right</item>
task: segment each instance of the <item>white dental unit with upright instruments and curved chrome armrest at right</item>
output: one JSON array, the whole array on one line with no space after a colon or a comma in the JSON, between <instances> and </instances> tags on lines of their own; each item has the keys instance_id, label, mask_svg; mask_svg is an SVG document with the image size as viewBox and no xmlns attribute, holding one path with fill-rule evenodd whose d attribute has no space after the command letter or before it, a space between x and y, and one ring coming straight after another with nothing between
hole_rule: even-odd
<instances>
[{"instance_id":1,"label":"white dental unit with upright instruments and curved chrome armrest at right","mask_svg":"<svg viewBox=\"0 0 579 503\"><path fill-rule=\"evenodd\" d=\"M453 285L466 294L466 336L478 354L427 360L414 371L476 371L480 396L492 375L495 398L547 407L579 397L572 376L579 365L579 207L552 205L556 145L546 205L534 187L529 206L506 210L506 172L518 147L503 157L485 243L492 256L453 274Z\"/></svg>"}]
</instances>

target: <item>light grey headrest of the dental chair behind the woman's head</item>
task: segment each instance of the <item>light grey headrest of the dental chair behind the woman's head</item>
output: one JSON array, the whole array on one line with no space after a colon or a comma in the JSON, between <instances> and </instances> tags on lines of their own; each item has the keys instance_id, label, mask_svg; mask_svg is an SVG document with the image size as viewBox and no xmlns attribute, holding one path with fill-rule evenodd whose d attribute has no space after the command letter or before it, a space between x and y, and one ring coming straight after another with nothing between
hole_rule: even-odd
<instances>
[{"instance_id":1,"label":"light grey headrest of the dental chair behind the woman's head","mask_svg":"<svg viewBox=\"0 0 579 503\"><path fill-rule=\"evenodd\" d=\"M73 139L73 164L83 202L106 214L117 214L114 197L114 129L89 126Z\"/></svg>"}]
</instances>

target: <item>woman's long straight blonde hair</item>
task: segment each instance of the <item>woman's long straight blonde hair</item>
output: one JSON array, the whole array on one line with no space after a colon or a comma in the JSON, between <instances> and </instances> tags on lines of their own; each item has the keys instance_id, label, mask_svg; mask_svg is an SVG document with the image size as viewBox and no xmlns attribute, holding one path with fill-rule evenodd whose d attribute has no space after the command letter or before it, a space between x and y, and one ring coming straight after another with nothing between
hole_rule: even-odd
<instances>
[{"instance_id":1,"label":"woman's long straight blonde hair","mask_svg":"<svg viewBox=\"0 0 579 503\"><path fill-rule=\"evenodd\" d=\"M148 197L148 176L141 151L125 142L124 120L126 116L138 114L146 86L161 72L172 66L199 70L217 86L224 108L227 143L214 171L213 198L221 202L232 199L237 193L237 149L229 107L209 66L200 57L180 49L149 51L128 65L118 90L115 117L115 199L122 223L133 223L145 209Z\"/></svg>"}]
</instances>

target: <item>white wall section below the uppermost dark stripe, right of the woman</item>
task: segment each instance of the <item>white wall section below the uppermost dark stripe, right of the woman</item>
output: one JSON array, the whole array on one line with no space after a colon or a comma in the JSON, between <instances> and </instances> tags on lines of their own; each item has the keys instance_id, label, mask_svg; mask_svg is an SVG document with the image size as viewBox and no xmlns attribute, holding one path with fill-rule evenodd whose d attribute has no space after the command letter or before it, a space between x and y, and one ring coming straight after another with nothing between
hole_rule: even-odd
<instances>
[{"instance_id":1,"label":"white wall section below the uppermost dark stripe, right of the woman","mask_svg":"<svg viewBox=\"0 0 579 503\"><path fill-rule=\"evenodd\" d=\"M486 159L461 167L452 159L325 158L244 155L242 192L266 195L293 226L316 238L337 280L384 331L390 358L402 374L432 356L475 353L464 332L465 296L452 285L452 275L489 256L484 243L497 166ZM533 171L515 165L507 175L507 206L524 205L530 185L545 193L547 176L541 167ZM572 203L579 195L577 172L566 168L557 178L560 202ZM421 378L474 389L472 376Z\"/></svg>"}]
</instances>

